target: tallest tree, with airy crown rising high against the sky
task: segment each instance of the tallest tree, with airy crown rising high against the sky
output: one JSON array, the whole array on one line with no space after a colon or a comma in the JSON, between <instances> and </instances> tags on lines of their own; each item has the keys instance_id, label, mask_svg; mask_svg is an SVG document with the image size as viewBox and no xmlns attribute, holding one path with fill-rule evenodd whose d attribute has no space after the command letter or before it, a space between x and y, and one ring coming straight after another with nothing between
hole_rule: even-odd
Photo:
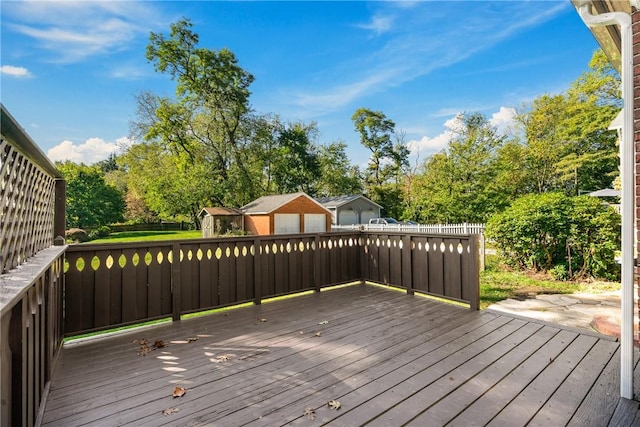
<instances>
[{"instance_id":1,"label":"tallest tree, with airy crown rising high against the sky","mask_svg":"<svg viewBox=\"0 0 640 427\"><path fill-rule=\"evenodd\" d=\"M191 27L182 19L171 25L169 37L151 33L146 57L156 71L176 81L175 100L140 94L132 128L186 162L179 170L206 170L200 180L215 181L210 182L215 189L211 198L235 204L236 183L249 175L242 163L247 144L243 123L250 113L253 76L228 49L198 47L199 37Z\"/></svg>"}]
</instances>

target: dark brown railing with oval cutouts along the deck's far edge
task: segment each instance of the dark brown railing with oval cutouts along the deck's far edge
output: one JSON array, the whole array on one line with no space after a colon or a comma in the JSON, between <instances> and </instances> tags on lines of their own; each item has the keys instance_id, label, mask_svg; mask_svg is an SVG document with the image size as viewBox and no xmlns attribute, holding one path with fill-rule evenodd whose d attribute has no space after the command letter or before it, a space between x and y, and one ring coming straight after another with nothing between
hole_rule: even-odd
<instances>
[{"instance_id":1,"label":"dark brown railing with oval cutouts along the deck's far edge","mask_svg":"<svg viewBox=\"0 0 640 427\"><path fill-rule=\"evenodd\" d=\"M70 246L65 335L354 281L477 309L475 239L344 232Z\"/></svg>"}]
</instances>

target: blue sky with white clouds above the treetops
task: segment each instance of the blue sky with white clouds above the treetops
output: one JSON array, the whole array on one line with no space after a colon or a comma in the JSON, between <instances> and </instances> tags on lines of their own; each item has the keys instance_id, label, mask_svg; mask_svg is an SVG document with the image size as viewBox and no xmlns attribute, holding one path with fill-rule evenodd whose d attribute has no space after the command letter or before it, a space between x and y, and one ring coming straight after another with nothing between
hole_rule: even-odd
<instances>
[{"instance_id":1,"label":"blue sky with white clouds above the treetops","mask_svg":"<svg viewBox=\"0 0 640 427\"><path fill-rule=\"evenodd\" d=\"M171 96L149 32L190 18L200 46L232 50L251 104L315 121L366 164L351 116L379 110L413 159L446 145L460 112L508 128L513 109L566 90L598 47L566 1L1 3L1 100L53 160L93 163L127 143L134 95Z\"/></svg>"}]
</instances>

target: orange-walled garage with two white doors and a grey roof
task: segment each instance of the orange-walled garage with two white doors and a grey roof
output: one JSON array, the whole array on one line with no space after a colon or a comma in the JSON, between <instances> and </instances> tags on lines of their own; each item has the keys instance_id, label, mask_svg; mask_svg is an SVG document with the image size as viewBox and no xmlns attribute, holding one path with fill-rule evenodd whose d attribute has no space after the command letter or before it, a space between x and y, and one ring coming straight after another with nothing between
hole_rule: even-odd
<instances>
[{"instance_id":1,"label":"orange-walled garage with two white doors and a grey roof","mask_svg":"<svg viewBox=\"0 0 640 427\"><path fill-rule=\"evenodd\" d=\"M324 233L331 231L331 212L305 193L263 196L240 208L251 234Z\"/></svg>"}]
</instances>

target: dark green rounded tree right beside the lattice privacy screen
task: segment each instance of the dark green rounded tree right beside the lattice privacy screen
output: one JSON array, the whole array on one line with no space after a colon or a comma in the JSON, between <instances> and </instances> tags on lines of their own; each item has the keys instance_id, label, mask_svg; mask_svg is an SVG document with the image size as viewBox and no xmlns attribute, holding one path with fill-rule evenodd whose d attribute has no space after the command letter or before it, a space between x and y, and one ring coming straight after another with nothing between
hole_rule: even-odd
<instances>
[{"instance_id":1,"label":"dark green rounded tree right beside the lattice privacy screen","mask_svg":"<svg viewBox=\"0 0 640 427\"><path fill-rule=\"evenodd\" d=\"M98 166L56 163L67 182L67 227L96 227L123 220L122 193L105 182Z\"/></svg>"}]
</instances>

